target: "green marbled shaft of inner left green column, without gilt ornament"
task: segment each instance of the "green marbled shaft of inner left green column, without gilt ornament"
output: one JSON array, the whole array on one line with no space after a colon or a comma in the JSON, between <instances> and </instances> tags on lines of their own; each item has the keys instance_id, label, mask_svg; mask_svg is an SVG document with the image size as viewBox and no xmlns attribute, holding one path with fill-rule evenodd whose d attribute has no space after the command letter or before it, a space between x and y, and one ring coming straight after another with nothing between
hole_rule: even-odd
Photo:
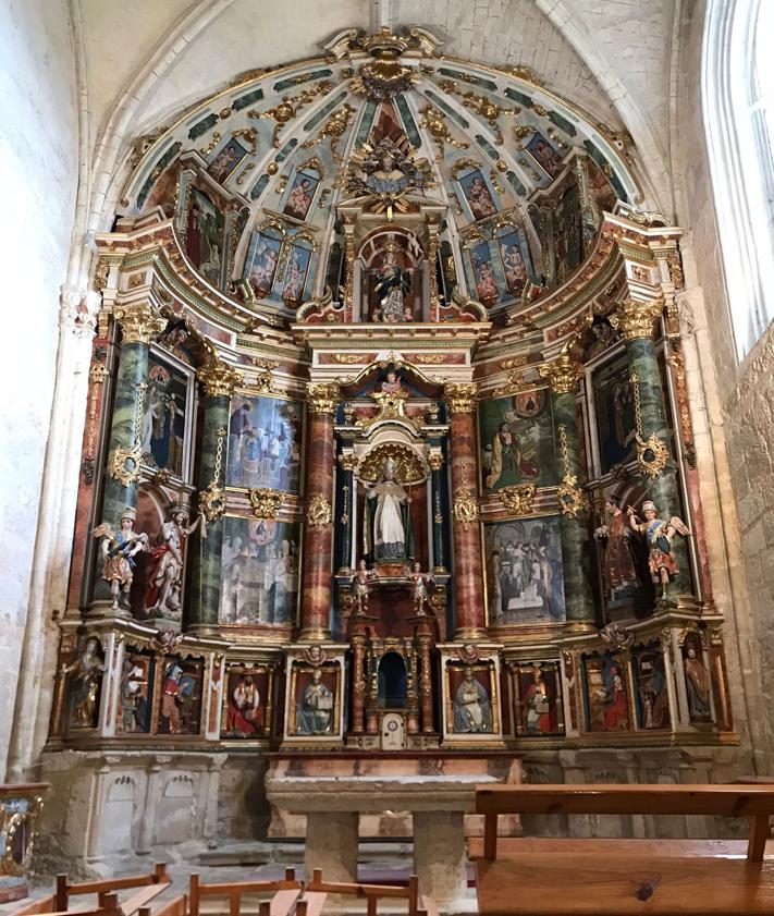
<instances>
[{"instance_id":1,"label":"green marbled shaft of inner left green column, without gilt ornament","mask_svg":"<svg viewBox=\"0 0 774 916\"><path fill-rule=\"evenodd\" d=\"M199 456L199 490L206 490L212 481L218 453L218 429L229 428L229 399L205 396ZM225 486L225 450L228 435L223 438L220 475L218 484ZM223 520L207 525L207 538L196 534L191 541L191 575L185 602L185 627L218 625L220 604L221 554L223 551Z\"/></svg>"}]
</instances>

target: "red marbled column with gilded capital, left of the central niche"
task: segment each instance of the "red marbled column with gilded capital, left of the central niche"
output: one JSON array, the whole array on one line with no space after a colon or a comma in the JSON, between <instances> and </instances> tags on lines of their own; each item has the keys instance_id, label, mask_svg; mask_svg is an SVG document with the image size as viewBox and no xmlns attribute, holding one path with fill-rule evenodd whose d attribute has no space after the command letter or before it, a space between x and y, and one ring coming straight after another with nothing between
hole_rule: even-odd
<instances>
[{"instance_id":1,"label":"red marbled column with gilded capital, left of the central niche","mask_svg":"<svg viewBox=\"0 0 774 916\"><path fill-rule=\"evenodd\" d=\"M340 392L335 382L311 382L307 389L309 422L306 449L306 527L302 639L330 639L333 564L333 414Z\"/></svg>"}]
</instances>

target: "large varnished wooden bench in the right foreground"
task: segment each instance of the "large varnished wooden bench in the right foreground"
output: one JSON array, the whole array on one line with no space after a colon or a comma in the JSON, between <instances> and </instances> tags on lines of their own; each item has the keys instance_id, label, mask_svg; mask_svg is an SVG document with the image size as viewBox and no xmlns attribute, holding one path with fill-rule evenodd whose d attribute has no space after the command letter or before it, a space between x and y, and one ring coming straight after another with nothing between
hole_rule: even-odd
<instances>
[{"instance_id":1,"label":"large varnished wooden bench in the right foreground","mask_svg":"<svg viewBox=\"0 0 774 916\"><path fill-rule=\"evenodd\" d=\"M471 843L482 916L774 913L774 858L764 858L774 785L481 786L476 810L484 816L483 843ZM747 842L499 841L501 814L749 818L750 834Z\"/></svg>"}]
</instances>

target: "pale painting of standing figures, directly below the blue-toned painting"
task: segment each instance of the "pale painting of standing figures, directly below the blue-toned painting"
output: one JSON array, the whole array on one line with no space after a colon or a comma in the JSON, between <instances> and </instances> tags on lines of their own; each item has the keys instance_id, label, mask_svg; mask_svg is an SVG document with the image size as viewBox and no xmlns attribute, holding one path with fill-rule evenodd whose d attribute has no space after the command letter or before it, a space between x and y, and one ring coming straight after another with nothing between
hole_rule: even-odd
<instances>
[{"instance_id":1,"label":"pale painting of standing figures, directly below the blue-toned painting","mask_svg":"<svg viewBox=\"0 0 774 916\"><path fill-rule=\"evenodd\" d=\"M225 625L290 626L298 607L300 522L223 520L218 620Z\"/></svg>"}]
</instances>

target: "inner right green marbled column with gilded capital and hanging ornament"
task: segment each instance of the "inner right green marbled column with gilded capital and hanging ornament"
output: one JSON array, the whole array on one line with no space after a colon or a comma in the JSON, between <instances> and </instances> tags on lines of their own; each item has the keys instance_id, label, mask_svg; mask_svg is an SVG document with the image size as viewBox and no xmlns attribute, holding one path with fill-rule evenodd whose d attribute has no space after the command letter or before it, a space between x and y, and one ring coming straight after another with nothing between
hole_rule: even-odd
<instances>
[{"instance_id":1,"label":"inner right green marbled column with gilded capital and hanging ornament","mask_svg":"<svg viewBox=\"0 0 774 916\"><path fill-rule=\"evenodd\" d=\"M575 392L583 367L562 353L540 375L551 386L556 451L558 455L558 506L564 566L564 601L567 621L582 628L595 622L591 589L591 546L589 541L588 500L582 489L578 419Z\"/></svg>"}]
</instances>

